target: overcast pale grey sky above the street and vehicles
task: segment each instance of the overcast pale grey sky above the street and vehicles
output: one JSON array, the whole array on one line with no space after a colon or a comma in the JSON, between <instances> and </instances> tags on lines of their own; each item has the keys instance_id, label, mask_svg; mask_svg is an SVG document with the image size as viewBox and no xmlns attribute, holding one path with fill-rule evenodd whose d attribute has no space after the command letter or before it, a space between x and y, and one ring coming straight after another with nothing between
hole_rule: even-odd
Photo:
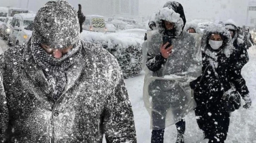
<instances>
[{"instance_id":1,"label":"overcast pale grey sky above the street and vehicles","mask_svg":"<svg viewBox=\"0 0 256 143\"><path fill-rule=\"evenodd\" d=\"M12 6L26 8L28 0L0 0L0 6ZM49 0L29 0L29 9L37 11ZM89 7L86 5L88 1L93 0L67 0L75 8L77 4L81 4L83 8ZM105 1L105 0L103 0ZM140 16L151 15L159 8L163 7L168 0L139 0ZM246 11L249 0L176 0L180 2L185 11L187 19L212 19L225 20L228 18L234 19L239 25L245 24ZM20 4L21 2L21 4ZM95 13L97 14L97 13ZM253 17L254 14L250 14ZM256 18L256 15L255 15Z\"/></svg>"}]
</instances>

